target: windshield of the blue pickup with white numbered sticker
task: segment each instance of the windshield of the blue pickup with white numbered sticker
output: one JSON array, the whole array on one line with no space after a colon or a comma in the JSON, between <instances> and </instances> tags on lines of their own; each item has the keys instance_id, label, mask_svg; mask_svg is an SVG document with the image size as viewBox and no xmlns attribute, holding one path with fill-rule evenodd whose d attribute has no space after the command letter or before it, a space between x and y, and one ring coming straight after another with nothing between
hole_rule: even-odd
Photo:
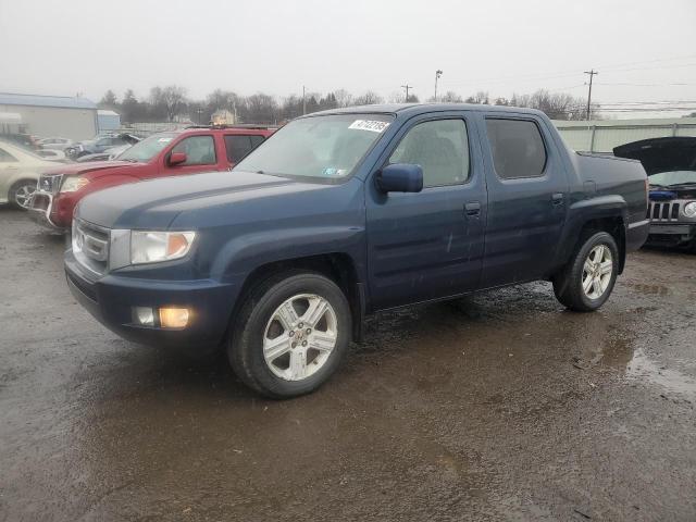
<instances>
[{"instance_id":1,"label":"windshield of the blue pickup with white numbered sticker","mask_svg":"<svg viewBox=\"0 0 696 522\"><path fill-rule=\"evenodd\" d=\"M235 171L343 178L387 128L388 114L332 114L295 120L237 164Z\"/></svg>"}]
</instances>

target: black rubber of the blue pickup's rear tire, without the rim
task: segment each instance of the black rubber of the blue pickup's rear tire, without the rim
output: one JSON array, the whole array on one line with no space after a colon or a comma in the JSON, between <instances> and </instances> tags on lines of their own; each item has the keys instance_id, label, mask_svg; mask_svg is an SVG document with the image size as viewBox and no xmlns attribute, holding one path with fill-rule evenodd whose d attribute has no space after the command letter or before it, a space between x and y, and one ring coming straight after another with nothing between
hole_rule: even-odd
<instances>
[{"instance_id":1,"label":"black rubber of the blue pickup's rear tire, without the rim","mask_svg":"<svg viewBox=\"0 0 696 522\"><path fill-rule=\"evenodd\" d=\"M588 297L583 289L583 272L585 261L599 245L604 245L611 252L611 277L604 293L597 298ZM558 273L554 282L554 294L556 298L567 308L576 312L593 312L598 310L611 295L613 285L619 273L619 248L617 241L606 232L592 233L584 236L584 240L579 241L568 264Z\"/></svg>"}]
</instances>

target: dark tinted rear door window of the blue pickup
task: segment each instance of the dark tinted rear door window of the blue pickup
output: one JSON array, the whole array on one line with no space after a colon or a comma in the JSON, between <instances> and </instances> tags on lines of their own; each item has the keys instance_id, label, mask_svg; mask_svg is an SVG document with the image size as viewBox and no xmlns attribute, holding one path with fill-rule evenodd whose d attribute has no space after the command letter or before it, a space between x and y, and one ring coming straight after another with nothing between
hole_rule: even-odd
<instances>
[{"instance_id":1,"label":"dark tinted rear door window of the blue pickup","mask_svg":"<svg viewBox=\"0 0 696 522\"><path fill-rule=\"evenodd\" d=\"M544 175L546 149L534 122L488 119L486 130L498 177L514 179Z\"/></svg>"}]
</instances>

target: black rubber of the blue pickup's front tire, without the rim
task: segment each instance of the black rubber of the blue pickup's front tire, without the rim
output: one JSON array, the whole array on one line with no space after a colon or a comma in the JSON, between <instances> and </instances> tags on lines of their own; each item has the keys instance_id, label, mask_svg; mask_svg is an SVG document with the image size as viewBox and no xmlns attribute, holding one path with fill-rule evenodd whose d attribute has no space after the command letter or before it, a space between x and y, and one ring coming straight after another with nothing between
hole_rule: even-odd
<instances>
[{"instance_id":1,"label":"black rubber of the blue pickup's front tire, without the rim","mask_svg":"<svg viewBox=\"0 0 696 522\"><path fill-rule=\"evenodd\" d=\"M315 373L289 381L274 374L266 363L263 338L276 309L291 297L304 294L320 296L331 304L336 319L336 343ZM285 272L262 282L248 294L235 322L227 346L234 372L250 388L274 399L304 395L326 382L348 350L352 332L350 306L340 288L327 277L306 271Z\"/></svg>"}]
</instances>

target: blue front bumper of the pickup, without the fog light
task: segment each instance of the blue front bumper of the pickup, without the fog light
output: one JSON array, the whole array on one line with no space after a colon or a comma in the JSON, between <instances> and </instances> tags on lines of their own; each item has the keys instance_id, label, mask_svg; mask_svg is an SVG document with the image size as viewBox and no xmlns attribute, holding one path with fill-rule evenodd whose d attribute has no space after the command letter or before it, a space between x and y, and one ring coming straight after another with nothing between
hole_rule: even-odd
<instances>
[{"instance_id":1,"label":"blue front bumper of the pickup, without the fog light","mask_svg":"<svg viewBox=\"0 0 696 522\"><path fill-rule=\"evenodd\" d=\"M238 288L212 279L159 281L119 275L96 276L65 253L67 286L77 301L121 337L144 345L206 351L225 339ZM183 330L142 326L133 322L133 307L186 307Z\"/></svg>"}]
</instances>

